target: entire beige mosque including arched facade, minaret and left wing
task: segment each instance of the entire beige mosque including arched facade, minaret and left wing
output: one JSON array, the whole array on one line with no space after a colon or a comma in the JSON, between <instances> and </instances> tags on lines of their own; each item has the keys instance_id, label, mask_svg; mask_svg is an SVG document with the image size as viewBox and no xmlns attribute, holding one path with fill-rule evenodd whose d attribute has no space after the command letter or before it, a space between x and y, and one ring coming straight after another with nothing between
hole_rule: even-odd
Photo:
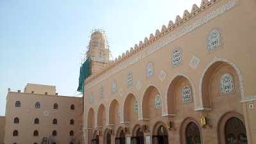
<instances>
[{"instance_id":1,"label":"entire beige mosque including arched facade, minaret and left wing","mask_svg":"<svg viewBox=\"0 0 256 144\"><path fill-rule=\"evenodd\" d=\"M50 124L58 116L60 124L29 126L29 131L49 127L38 140L50 132L51 143L256 143L255 13L255 0L202 0L115 60L109 58L104 31L96 29L80 69L77 91L83 98L62 98L56 102L60 110L40 98L46 108L26 107L22 115L33 121L34 111L40 111L40 122ZM51 99L57 99L53 92ZM12 98L6 108L19 101ZM33 140L31 134L20 135L22 119L13 124L15 111L6 109L4 141L10 142L4 143Z\"/></svg>"}]
</instances>

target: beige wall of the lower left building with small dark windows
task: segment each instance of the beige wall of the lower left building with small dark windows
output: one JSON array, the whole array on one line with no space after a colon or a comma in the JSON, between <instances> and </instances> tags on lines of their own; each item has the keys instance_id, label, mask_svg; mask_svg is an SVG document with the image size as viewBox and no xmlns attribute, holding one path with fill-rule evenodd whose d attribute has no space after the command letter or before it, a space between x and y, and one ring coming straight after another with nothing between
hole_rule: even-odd
<instances>
[{"instance_id":1,"label":"beige wall of the lower left building with small dark windows","mask_svg":"<svg viewBox=\"0 0 256 144\"><path fill-rule=\"evenodd\" d=\"M20 107L15 107L18 100ZM40 102L40 108L35 108L36 102ZM54 109L55 103L58 109ZM75 109L70 109L72 104ZM4 143L41 143L44 137L49 140L52 131L57 132L57 136L51 137L56 143L69 143L72 137L76 137L77 143L82 136L81 109L81 97L8 92ZM48 116L44 115L45 111L49 112ZM19 124L14 124L16 117ZM39 119L39 124L35 124L35 118ZM57 124L52 124L54 118ZM74 125L70 125L71 119ZM18 136L13 136L15 130L19 132ZM38 131L38 136L33 136L34 131ZM70 131L74 131L74 136L70 136Z\"/></svg>"}]
</instances>

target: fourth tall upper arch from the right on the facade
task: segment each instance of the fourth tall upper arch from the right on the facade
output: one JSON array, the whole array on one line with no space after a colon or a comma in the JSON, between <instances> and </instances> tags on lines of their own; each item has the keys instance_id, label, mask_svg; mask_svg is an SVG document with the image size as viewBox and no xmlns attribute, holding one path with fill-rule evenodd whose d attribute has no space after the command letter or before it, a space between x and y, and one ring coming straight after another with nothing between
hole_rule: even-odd
<instances>
[{"instance_id":1,"label":"fourth tall upper arch from the right on the facade","mask_svg":"<svg viewBox=\"0 0 256 144\"><path fill-rule=\"evenodd\" d=\"M122 111L124 111L123 113L123 120L124 120L124 123L125 122L130 122L130 114L131 114L131 111L130 111L130 106L131 106L131 100L132 98L135 97L135 99L137 100L138 102L138 97L136 96L136 94L134 92L129 92L127 93L127 95L125 96L125 99L124 99L124 102L123 102L123 107L122 107ZM138 109L140 111L140 108L138 106Z\"/></svg>"}]
</instances>

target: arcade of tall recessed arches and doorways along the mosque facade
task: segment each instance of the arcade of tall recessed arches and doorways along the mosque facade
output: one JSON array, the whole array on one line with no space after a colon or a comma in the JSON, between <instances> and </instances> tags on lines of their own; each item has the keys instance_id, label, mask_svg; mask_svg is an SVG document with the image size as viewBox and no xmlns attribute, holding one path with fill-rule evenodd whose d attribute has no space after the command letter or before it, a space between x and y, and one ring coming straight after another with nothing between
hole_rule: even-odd
<instances>
[{"instance_id":1,"label":"arcade of tall recessed arches and doorways along the mosque facade","mask_svg":"<svg viewBox=\"0 0 256 144\"><path fill-rule=\"evenodd\" d=\"M150 136L153 144L167 144L173 141L199 144L212 141L204 140L210 134L218 143L248 143L243 104L239 101L239 76L235 68L228 63L217 61L208 69L210 70L206 70L202 78L202 88L206 85L209 89L202 90L202 93L209 95L204 94L202 99L204 106L211 110L195 111L195 86L188 76L179 74L170 80L165 98L158 86L150 84L141 98L129 92L124 102L113 97L108 102L109 106L102 102L97 109L91 107L86 118L87 128L84 137L92 144L143 144L147 143L146 136ZM223 94L221 78L225 74L232 77L234 91ZM189 92L186 93L189 93L188 96L192 99L188 102L184 102L182 97L185 86L188 86ZM167 109L166 115L163 114L164 108ZM208 125L202 126L201 116L207 117ZM172 128L168 129L166 122L172 122Z\"/></svg>"}]
</instances>

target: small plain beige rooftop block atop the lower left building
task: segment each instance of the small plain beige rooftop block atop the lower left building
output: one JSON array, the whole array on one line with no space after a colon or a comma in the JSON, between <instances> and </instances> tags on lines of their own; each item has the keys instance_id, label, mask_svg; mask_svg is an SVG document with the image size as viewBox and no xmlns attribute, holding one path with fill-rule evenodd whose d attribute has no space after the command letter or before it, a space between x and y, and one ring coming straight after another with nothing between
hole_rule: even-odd
<instances>
[{"instance_id":1,"label":"small plain beige rooftop block atop the lower left building","mask_svg":"<svg viewBox=\"0 0 256 144\"><path fill-rule=\"evenodd\" d=\"M31 93L32 91L37 94L45 94L47 92L48 95L55 95L56 86L28 83L24 88L24 93Z\"/></svg>"}]
</instances>

